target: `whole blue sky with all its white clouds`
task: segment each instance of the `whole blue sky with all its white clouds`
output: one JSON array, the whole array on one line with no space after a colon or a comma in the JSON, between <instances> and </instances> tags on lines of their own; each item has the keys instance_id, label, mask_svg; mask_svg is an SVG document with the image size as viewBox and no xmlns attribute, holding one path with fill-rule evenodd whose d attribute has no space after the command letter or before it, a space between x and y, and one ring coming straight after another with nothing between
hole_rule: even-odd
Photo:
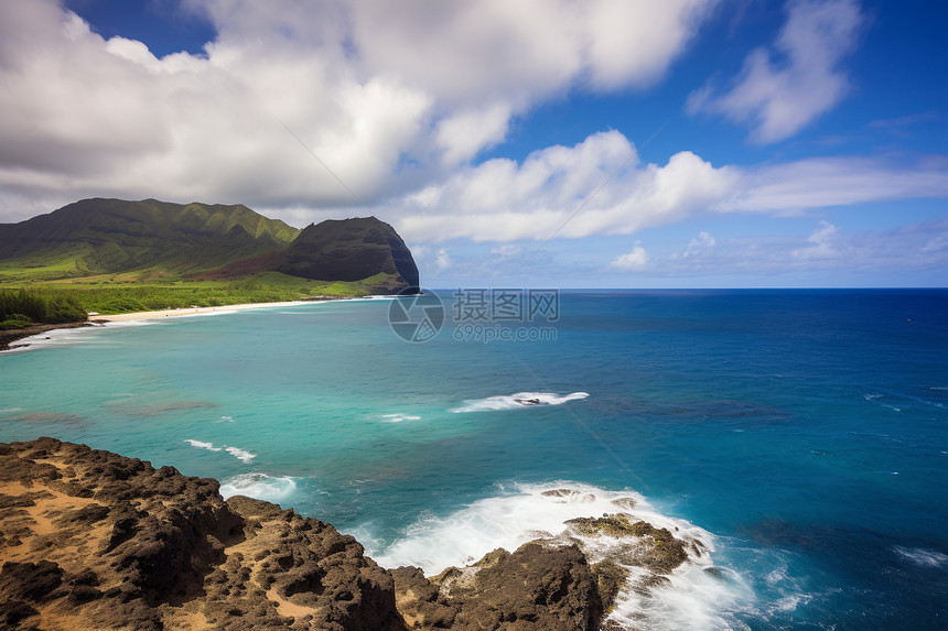
<instances>
[{"instance_id":1,"label":"whole blue sky with all its white clouds","mask_svg":"<svg viewBox=\"0 0 948 631\"><path fill-rule=\"evenodd\" d=\"M948 285L944 0L0 0L0 222L375 215L423 286Z\"/></svg>"}]
</instances>

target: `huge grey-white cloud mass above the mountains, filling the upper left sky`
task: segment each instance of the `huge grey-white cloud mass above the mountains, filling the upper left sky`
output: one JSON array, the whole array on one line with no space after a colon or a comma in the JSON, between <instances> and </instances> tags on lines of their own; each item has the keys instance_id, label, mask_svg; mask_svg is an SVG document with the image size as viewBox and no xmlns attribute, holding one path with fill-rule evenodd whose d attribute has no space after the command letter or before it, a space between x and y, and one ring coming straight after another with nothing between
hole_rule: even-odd
<instances>
[{"instance_id":1,"label":"huge grey-white cloud mass above the mountains, filling the upper left sky","mask_svg":"<svg viewBox=\"0 0 948 631\"><path fill-rule=\"evenodd\" d=\"M336 176L367 204L423 191L545 99L660 77L718 0L180 1L217 33L204 54L0 0L4 196L338 209L358 203Z\"/></svg>"}]
</instances>

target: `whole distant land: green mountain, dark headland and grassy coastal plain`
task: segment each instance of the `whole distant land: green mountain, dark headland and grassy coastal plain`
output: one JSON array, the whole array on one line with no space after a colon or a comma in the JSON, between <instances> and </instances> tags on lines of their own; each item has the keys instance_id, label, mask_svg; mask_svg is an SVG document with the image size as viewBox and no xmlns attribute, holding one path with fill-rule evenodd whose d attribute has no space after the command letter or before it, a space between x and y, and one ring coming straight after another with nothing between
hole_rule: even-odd
<instances>
[{"instance_id":1,"label":"whole distant land: green mountain, dark headland and grassy coastal plain","mask_svg":"<svg viewBox=\"0 0 948 631\"><path fill-rule=\"evenodd\" d=\"M241 205L84 199L0 224L0 330L87 313L396 293L406 283L418 283L411 253L374 217L300 231Z\"/></svg>"}]
</instances>

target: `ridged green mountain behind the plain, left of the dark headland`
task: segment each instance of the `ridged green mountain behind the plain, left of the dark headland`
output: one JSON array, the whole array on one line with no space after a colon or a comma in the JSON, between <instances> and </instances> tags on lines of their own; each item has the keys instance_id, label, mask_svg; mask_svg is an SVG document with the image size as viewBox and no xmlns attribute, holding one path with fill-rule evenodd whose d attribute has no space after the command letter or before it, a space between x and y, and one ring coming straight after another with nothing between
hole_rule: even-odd
<instances>
[{"instance_id":1,"label":"ridged green mountain behind the plain, left of the dark headland","mask_svg":"<svg viewBox=\"0 0 948 631\"><path fill-rule=\"evenodd\" d=\"M286 248L298 233L243 205L83 199L0 225L0 279L186 275Z\"/></svg>"}]
</instances>

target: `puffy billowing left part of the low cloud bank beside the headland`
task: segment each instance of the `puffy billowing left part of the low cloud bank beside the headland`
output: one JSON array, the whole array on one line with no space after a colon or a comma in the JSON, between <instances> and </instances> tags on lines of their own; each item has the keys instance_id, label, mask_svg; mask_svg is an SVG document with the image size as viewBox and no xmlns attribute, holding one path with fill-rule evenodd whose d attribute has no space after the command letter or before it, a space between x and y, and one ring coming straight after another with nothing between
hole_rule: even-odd
<instances>
[{"instance_id":1,"label":"puffy billowing left part of the low cloud bank beside the headland","mask_svg":"<svg viewBox=\"0 0 948 631\"><path fill-rule=\"evenodd\" d=\"M740 178L687 151L664 166L643 164L628 139L608 131L536 151L523 163L486 161L396 204L400 229L417 240L627 235L708 211Z\"/></svg>"}]
</instances>

